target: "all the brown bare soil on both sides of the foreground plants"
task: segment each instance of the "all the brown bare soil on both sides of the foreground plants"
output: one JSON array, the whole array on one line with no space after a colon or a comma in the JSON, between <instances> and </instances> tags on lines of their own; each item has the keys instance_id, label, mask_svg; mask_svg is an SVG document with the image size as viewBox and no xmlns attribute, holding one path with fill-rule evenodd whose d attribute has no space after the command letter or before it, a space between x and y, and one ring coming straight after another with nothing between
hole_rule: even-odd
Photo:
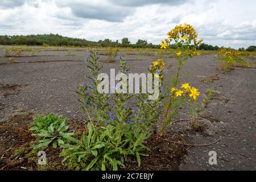
<instances>
[{"instance_id":1,"label":"all the brown bare soil on both sides of the foreground plants","mask_svg":"<svg viewBox=\"0 0 256 182\"><path fill-rule=\"evenodd\" d=\"M67 170L61 164L61 148L46 148L47 165L38 165L38 154L32 148L36 142L28 130L34 113L20 113L0 122L0 170ZM80 135L85 130L85 122L77 119L68 121L69 131ZM138 167L135 156L127 156L125 170L178 170L181 162L187 155L188 146L174 142L191 143L186 131L166 133L162 138L153 134L146 141L150 148L149 156L142 157L142 165Z\"/></svg>"}]
</instances>

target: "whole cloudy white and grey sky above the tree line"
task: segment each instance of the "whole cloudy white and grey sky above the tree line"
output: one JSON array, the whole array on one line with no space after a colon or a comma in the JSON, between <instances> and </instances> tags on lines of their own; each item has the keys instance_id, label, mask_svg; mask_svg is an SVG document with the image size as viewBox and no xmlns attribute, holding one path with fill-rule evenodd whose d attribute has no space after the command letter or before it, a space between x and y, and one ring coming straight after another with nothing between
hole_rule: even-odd
<instances>
[{"instance_id":1,"label":"whole cloudy white and grey sky above the tree line","mask_svg":"<svg viewBox=\"0 0 256 182\"><path fill-rule=\"evenodd\" d=\"M0 35L60 34L73 38L159 44L179 23L205 43L256 45L255 0L1 0Z\"/></svg>"}]
</instances>

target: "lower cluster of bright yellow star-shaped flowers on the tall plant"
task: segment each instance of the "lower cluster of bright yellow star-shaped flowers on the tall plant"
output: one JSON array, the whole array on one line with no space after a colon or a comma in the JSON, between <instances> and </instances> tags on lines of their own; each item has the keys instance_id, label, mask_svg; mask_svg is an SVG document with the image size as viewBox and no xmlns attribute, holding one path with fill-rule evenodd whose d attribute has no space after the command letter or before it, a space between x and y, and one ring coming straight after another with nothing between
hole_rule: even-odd
<instances>
[{"instance_id":1,"label":"lower cluster of bright yellow star-shaped flowers on the tall plant","mask_svg":"<svg viewBox=\"0 0 256 182\"><path fill-rule=\"evenodd\" d=\"M171 92L175 93L176 97L191 97L191 100L195 101L197 99L197 96L200 95L200 92L195 87L189 86L188 83L182 84L180 87L182 90L179 90L177 88L172 88Z\"/></svg>"}]
</instances>

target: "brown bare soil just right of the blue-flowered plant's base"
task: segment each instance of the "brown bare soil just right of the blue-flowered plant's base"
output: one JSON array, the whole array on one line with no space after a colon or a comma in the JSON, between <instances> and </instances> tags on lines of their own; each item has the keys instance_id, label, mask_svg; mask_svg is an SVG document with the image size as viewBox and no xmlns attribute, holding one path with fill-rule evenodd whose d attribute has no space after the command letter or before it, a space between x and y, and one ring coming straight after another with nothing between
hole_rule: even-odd
<instances>
[{"instance_id":1,"label":"brown bare soil just right of the blue-flowered plant's base","mask_svg":"<svg viewBox=\"0 0 256 182\"><path fill-rule=\"evenodd\" d=\"M191 143L186 131L177 133L166 133L162 138L153 134L147 140L147 146L150 147L149 156L142 158L141 167L138 167L137 159L130 156L126 159L125 170L178 170L181 162L187 155L188 146L169 142Z\"/></svg>"}]
</instances>

